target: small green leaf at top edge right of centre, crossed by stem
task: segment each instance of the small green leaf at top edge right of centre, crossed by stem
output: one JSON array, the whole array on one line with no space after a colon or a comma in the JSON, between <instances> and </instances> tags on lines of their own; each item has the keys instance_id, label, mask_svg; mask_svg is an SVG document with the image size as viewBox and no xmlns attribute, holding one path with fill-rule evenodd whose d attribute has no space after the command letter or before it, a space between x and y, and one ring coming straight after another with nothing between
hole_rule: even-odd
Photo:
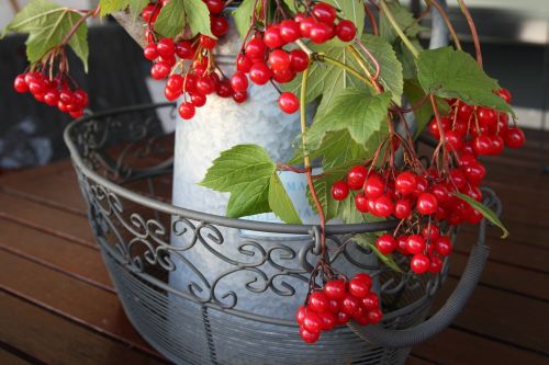
<instances>
[{"instance_id":1,"label":"small green leaf at top edge right of centre, crossed by stem","mask_svg":"<svg viewBox=\"0 0 549 365\"><path fill-rule=\"evenodd\" d=\"M391 14L393 14L396 24L399 24L399 27L407 37L413 38L419 32L426 30L426 27L417 24L414 15L406 8L401 5L399 1L385 0L385 3ZM383 12L380 12L380 36L390 44L393 44L399 38L399 35Z\"/></svg>"}]
</instances>

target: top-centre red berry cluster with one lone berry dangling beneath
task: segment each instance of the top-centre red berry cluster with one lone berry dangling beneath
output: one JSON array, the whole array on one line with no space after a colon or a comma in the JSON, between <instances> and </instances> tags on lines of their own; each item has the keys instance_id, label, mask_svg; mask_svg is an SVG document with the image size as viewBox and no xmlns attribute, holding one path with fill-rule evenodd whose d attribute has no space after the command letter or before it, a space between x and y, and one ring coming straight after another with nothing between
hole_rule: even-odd
<instances>
[{"instance_id":1,"label":"top-centre red berry cluster with one lone berry dangling beneath","mask_svg":"<svg viewBox=\"0 0 549 365\"><path fill-rule=\"evenodd\" d=\"M355 24L341 20L336 25L336 19L334 7L317 2L312 7L311 14L299 13L293 19L269 24L265 31L255 32L236 60L237 71L231 79L233 89L246 92L246 75L258 85L266 84L269 80L278 83L292 81L296 73L307 68L309 56L301 49L285 50L283 47L300 38L307 38L316 44L335 36L344 42L352 41L357 34ZM279 105L284 113L293 114L299 110L300 102L295 94L287 91L281 93Z\"/></svg>"}]
</instances>

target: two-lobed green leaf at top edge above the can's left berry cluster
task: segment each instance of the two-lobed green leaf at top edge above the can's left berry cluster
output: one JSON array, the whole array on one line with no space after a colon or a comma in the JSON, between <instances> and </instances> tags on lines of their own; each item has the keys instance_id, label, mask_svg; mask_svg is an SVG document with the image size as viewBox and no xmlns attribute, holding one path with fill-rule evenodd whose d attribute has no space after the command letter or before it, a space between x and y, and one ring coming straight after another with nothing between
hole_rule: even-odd
<instances>
[{"instance_id":1,"label":"two-lobed green leaf at top edge above the can's left berry cluster","mask_svg":"<svg viewBox=\"0 0 549 365\"><path fill-rule=\"evenodd\" d=\"M165 37L177 36L186 26L191 36L200 33L215 38L210 28L210 11L202 0L171 0L155 23L156 31Z\"/></svg>"}]
</instances>

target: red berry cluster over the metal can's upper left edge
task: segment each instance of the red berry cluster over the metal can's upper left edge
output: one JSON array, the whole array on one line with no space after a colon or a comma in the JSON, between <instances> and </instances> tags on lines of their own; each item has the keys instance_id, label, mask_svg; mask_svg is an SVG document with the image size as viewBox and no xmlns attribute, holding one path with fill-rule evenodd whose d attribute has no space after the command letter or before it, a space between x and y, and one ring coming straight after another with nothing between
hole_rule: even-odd
<instances>
[{"instance_id":1,"label":"red berry cluster over the metal can's upper left edge","mask_svg":"<svg viewBox=\"0 0 549 365\"><path fill-rule=\"evenodd\" d=\"M216 93L221 98L233 98L237 103L246 101L246 92L233 90L229 80L222 79L215 71L215 62L211 50L216 46L217 39L208 35L198 35L192 39L161 38L156 42L154 24L160 9L168 1L148 4L142 16L148 22L146 31L148 45L143 53L145 58L154 61L150 76L155 80L166 79L165 96L175 101L183 96L179 105L179 115L190 119L195 114L195 109L206 103L208 95ZM222 0L204 0L210 10L212 34L221 37L228 32L228 23L222 15L225 7ZM184 61L190 66L186 69Z\"/></svg>"}]
</instances>

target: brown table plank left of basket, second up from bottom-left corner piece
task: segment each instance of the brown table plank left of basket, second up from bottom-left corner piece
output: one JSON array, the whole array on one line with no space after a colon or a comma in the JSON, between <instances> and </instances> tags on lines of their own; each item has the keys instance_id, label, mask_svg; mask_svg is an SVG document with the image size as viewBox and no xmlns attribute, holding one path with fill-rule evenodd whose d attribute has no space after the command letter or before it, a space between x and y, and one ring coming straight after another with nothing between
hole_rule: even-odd
<instances>
[{"instance_id":1,"label":"brown table plank left of basket, second up from bottom-left corner piece","mask_svg":"<svg viewBox=\"0 0 549 365\"><path fill-rule=\"evenodd\" d=\"M154 353L130 323L115 294L1 250L0 267L0 288Z\"/></svg>"}]
</instances>

